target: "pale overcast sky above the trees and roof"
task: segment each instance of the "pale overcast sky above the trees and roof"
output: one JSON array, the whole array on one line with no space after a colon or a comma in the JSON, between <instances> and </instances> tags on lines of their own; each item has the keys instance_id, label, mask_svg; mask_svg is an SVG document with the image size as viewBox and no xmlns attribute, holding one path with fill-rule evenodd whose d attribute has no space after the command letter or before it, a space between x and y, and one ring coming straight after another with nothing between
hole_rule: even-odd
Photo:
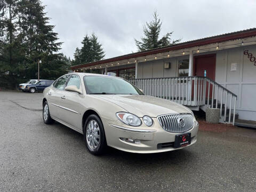
<instances>
[{"instance_id":1,"label":"pale overcast sky above the trees and roof","mask_svg":"<svg viewBox=\"0 0 256 192\"><path fill-rule=\"evenodd\" d=\"M95 33L106 52L116 57L136 52L143 25L161 18L161 35L170 31L182 42L256 27L256 1L43 0L47 17L59 34L62 50L73 58L86 34Z\"/></svg>"}]
</instances>

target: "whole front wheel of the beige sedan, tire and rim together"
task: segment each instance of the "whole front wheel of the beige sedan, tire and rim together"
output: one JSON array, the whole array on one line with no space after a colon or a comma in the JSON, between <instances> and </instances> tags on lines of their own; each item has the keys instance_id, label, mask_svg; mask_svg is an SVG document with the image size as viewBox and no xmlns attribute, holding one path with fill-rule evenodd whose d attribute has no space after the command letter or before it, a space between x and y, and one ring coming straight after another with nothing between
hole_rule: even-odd
<instances>
[{"instance_id":1,"label":"whole front wheel of the beige sedan, tire and rim together","mask_svg":"<svg viewBox=\"0 0 256 192\"><path fill-rule=\"evenodd\" d=\"M93 155L101 155L107 148L105 131L100 118L90 115L84 124L84 140L87 149Z\"/></svg>"}]
</instances>

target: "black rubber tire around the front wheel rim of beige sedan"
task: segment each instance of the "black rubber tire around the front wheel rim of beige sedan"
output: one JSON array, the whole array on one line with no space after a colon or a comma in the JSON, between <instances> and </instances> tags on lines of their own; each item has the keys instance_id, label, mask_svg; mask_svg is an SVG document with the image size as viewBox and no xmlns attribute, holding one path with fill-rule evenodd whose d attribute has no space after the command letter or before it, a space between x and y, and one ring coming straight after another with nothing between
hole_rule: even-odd
<instances>
[{"instance_id":1,"label":"black rubber tire around the front wheel rim of beige sedan","mask_svg":"<svg viewBox=\"0 0 256 192\"><path fill-rule=\"evenodd\" d=\"M99 146L96 148L96 149L92 149L90 148L90 146L88 145L87 143L87 140L86 140L86 127L87 127L87 124L90 122L90 120L94 120L94 121L97 121L98 125L99 125L99 129L100 129L100 143L99 143ZM105 131L104 131L104 127L103 127L103 124L101 122L101 119L97 116L97 115L90 115L86 121L85 121L85 124L84 124L84 129L83 129L83 133L84 133L84 140L85 140L85 145L86 145L86 148L90 151L91 154L93 155L100 155L104 152L105 148L106 148L106 137L105 137Z\"/></svg>"}]
</instances>

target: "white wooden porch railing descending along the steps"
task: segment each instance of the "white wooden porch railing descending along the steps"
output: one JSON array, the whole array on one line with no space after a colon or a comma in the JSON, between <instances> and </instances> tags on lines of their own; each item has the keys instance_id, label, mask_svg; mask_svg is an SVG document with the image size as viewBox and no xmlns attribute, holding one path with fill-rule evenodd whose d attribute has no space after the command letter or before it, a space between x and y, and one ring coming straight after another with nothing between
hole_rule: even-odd
<instances>
[{"instance_id":1,"label":"white wooden porch railing descending along the steps","mask_svg":"<svg viewBox=\"0 0 256 192\"><path fill-rule=\"evenodd\" d=\"M220 108L223 122L235 123L237 95L207 77L166 77L130 79L146 95L186 106ZM233 118L233 119L231 119Z\"/></svg>"}]
</instances>

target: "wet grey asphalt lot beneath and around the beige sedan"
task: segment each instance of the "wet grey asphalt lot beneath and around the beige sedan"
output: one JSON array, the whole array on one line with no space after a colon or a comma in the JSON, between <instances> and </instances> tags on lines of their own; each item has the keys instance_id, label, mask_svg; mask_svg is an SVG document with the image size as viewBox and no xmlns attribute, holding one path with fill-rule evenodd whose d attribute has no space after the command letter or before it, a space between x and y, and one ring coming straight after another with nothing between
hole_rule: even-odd
<instances>
[{"instance_id":1,"label":"wet grey asphalt lot beneath and around the beige sedan","mask_svg":"<svg viewBox=\"0 0 256 192\"><path fill-rule=\"evenodd\" d=\"M109 148L45 125L42 93L0 91L0 191L256 191L256 130L201 122L195 145L159 154Z\"/></svg>"}]
</instances>

